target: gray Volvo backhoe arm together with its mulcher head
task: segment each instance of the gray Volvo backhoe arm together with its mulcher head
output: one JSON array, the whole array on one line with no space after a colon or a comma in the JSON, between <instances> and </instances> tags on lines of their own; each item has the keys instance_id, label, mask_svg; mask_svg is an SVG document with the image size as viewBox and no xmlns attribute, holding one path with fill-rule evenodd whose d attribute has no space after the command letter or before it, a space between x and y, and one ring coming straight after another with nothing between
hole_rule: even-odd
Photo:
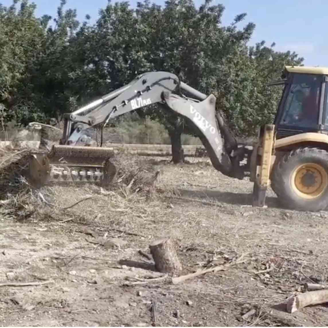
<instances>
[{"instance_id":1,"label":"gray Volvo backhoe arm together with its mulcher head","mask_svg":"<svg viewBox=\"0 0 328 328\"><path fill-rule=\"evenodd\" d=\"M243 148L238 148L221 115L215 111L215 102L213 94L207 96L195 90L181 82L175 74L140 74L129 84L73 113L65 114L60 145L53 146L46 159L44 156L34 155L31 170L34 177L37 171L44 173L45 169L40 170L40 166L43 166L57 179L62 176L67 179L68 174L75 176L77 180L96 181L103 178L101 168L106 168L110 158L108 150L101 147L76 146L86 130L94 127L101 127L103 130L110 119L116 116L152 104L160 104L165 109L184 116L194 125L215 169L227 176L242 179L243 171L239 162L244 157ZM63 160L65 168L74 168L73 173L65 168L60 172L57 170L51 173L50 164L55 163L56 167L63 167ZM77 167L79 169L76 169ZM40 176L36 179L40 179Z\"/></svg>"}]
</instances>

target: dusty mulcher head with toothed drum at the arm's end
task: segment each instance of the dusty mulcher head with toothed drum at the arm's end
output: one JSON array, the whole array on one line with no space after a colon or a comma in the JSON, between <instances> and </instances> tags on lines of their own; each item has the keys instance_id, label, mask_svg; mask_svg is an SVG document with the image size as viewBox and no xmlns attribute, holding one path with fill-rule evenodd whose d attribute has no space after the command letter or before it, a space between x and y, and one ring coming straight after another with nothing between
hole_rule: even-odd
<instances>
[{"instance_id":1,"label":"dusty mulcher head with toothed drum at the arm's end","mask_svg":"<svg viewBox=\"0 0 328 328\"><path fill-rule=\"evenodd\" d=\"M54 145L50 153L31 154L30 178L49 182L108 182L116 173L113 148Z\"/></svg>"}]
</instances>

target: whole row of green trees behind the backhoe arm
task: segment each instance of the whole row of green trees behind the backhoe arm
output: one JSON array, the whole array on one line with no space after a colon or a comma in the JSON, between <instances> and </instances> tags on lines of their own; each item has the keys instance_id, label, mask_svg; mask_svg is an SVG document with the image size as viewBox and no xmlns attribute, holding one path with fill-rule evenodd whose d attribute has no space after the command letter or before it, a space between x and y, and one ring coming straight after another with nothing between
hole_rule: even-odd
<instances>
[{"instance_id":1,"label":"whole row of green trees behind the backhoe arm","mask_svg":"<svg viewBox=\"0 0 328 328\"><path fill-rule=\"evenodd\" d=\"M63 113L136 74L164 70L201 92L214 93L217 110L232 131L249 136L272 122L277 108L281 90L266 84L279 78L284 65L303 62L295 52L277 52L264 41L249 47L255 24L239 29L246 17L241 13L223 26L224 7L212 6L211 0L199 8L192 0L168 0L163 7L144 0L136 9L128 2L109 2L93 25L88 16L78 22L76 11L65 5L61 0L53 19L36 17L36 6L28 0L14 0L9 8L0 5L2 129L12 120L23 125L47 123L51 117L60 121ZM140 122L149 119L164 126L163 139L170 137L175 161L180 160L181 134L197 136L188 122L165 108L149 106L133 117L141 130Z\"/></svg>"}]
</instances>

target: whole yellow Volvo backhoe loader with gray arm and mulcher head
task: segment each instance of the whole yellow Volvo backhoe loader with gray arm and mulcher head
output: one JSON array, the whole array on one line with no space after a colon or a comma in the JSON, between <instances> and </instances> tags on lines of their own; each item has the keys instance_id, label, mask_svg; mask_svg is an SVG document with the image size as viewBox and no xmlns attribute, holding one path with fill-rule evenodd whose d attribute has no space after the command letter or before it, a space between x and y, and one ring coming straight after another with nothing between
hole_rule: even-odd
<instances>
[{"instance_id":1,"label":"whole yellow Volvo backhoe loader with gray arm and mulcher head","mask_svg":"<svg viewBox=\"0 0 328 328\"><path fill-rule=\"evenodd\" d=\"M112 149L80 147L85 130L103 131L115 116L157 104L182 115L198 131L216 170L231 178L249 175L254 183L253 206L264 207L271 188L283 207L320 211L328 205L328 68L285 66L283 92L272 124L259 128L253 147L237 143L216 98L183 83L169 72L147 72L129 84L64 115L59 145L49 153L31 155L30 176L48 181L108 183L115 171ZM101 134L102 136L102 134ZM241 164L243 162L245 164Z\"/></svg>"}]
</instances>

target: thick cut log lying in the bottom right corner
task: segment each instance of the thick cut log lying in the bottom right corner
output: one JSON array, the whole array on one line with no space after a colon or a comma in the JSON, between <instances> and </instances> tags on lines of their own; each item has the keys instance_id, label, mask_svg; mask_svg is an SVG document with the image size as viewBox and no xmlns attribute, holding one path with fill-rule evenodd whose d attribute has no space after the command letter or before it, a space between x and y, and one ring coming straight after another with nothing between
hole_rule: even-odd
<instances>
[{"instance_id":1,"label":"thick cut log lying in the bottom right corner","mask_svg":"<svg viewBox=\"0 0 328 328\"><path fill-rule=\"evenodd\" d=\"M289 299L287 303L287 312L293 313L295 311L301 310L306 306L322 304L326 302L328 302L328 290L306 292Z\"/></svg>"}]
</instances>

